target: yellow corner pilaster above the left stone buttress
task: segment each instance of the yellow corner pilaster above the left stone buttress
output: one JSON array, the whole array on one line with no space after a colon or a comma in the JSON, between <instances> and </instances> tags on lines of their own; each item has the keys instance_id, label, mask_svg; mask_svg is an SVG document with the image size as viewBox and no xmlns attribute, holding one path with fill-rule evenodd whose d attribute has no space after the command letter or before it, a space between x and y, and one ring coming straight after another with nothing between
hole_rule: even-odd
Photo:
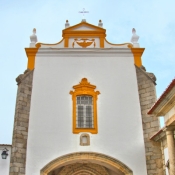
<instances>
[{"instance_id":1,"label":"yellow corner pilaster above the left stone buttress","mask_svg":"<svg viewBox=\"0 0 175 175\"><path fill-rule=\"evenodd\" d=\"M33 70L35 68L35 56L39 48L25 48L28 58L27 68Z\"/></svg>"}]
</instances>

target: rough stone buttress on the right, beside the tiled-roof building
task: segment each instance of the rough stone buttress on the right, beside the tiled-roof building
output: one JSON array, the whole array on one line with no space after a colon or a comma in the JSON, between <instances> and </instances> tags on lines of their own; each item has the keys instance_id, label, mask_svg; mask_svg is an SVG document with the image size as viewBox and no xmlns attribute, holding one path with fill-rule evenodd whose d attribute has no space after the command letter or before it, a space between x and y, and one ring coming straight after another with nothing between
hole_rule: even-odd
<instances>
[{"instance_id":1,"label":"rough stone buttress on the right, beside the tiled-roof building","mask_svg":"<svg viewBox=\"0 0 175 175\"><path fill-rule=\"evenodd\" d=\"M159 131L159 119L156 116L147 115L148 110L156 102L156 78L154 74L147 73L144 67L136 67L136 74L143 123L147 173L148 175L163 175L161 145L150 140L150 137Z\"/></svg>"}]
</instances>

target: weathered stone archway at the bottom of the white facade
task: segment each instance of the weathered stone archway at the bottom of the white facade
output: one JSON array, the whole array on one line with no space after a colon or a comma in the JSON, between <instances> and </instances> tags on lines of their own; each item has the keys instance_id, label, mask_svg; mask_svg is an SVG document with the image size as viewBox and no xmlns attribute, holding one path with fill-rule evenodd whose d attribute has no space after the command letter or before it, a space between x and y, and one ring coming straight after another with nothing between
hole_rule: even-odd
<instances>
[{"instance_id":1,"label":"weathered stone archway at the bottom of the white facade","mask_svg":"<svg viewBox=\"0 0 175 175\"><path fill-rule=\"evenodd\" d=\"M75 166L78 164L80 164L81 168L75 171ZM72 173L70 166L74 167ZM99 175L99 172L95 168L90 168L90 166L100 166L101 170L105 168L105 170L110 170L118 175L133 175L132 170L124 163L110 156L95 152L76 152L58 157L44 166L40 171L40 175ZM62 172L65 167L70 171ZM55 174L54 172L58 169L60 169L60 172ZM111 173L106 172L105 174L105 171L103 171L101 174L110 175Z\"/></svg>"}]
</instances>

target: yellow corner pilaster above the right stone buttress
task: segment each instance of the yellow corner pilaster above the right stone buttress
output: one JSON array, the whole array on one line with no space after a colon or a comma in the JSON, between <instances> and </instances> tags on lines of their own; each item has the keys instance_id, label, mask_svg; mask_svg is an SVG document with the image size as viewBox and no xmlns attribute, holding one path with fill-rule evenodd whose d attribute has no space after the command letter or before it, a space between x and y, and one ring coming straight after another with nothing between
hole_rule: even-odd
<instances>
[{"instance_id":1,"label":"yellow corner pilaster above the right stone buttress","mask_svg":"<svg viewBox=\"0 0 175 175\"><path fill-rule=\"evenodd\" d=\"M141 59L141 56L144 52L145 48L131 48L131 51L133 53L133 56L134 56L134 64L137 66L137 67L141 67L142 66L142 59Z\"/></svg>"}]
</instances>

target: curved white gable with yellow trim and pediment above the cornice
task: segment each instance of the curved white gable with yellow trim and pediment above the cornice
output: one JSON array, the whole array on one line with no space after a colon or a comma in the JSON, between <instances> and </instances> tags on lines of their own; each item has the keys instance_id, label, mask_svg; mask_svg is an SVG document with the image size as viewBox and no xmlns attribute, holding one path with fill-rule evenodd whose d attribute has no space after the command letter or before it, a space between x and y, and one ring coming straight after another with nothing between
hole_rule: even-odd
<instances>
[{"instance_id":1,"label":"curved white gable with yellow trim and pediment above the cornice","mask_svg":"<svg viewBox=\"0 0 175 175\"><path fill-rule=\"evenodd\" d=\"M106 40L106 29L86 21L62 30L63 39L55 44L37 43L37 48L132 48L131 43L112 44Z\"/></svg>"}]
</instances>

